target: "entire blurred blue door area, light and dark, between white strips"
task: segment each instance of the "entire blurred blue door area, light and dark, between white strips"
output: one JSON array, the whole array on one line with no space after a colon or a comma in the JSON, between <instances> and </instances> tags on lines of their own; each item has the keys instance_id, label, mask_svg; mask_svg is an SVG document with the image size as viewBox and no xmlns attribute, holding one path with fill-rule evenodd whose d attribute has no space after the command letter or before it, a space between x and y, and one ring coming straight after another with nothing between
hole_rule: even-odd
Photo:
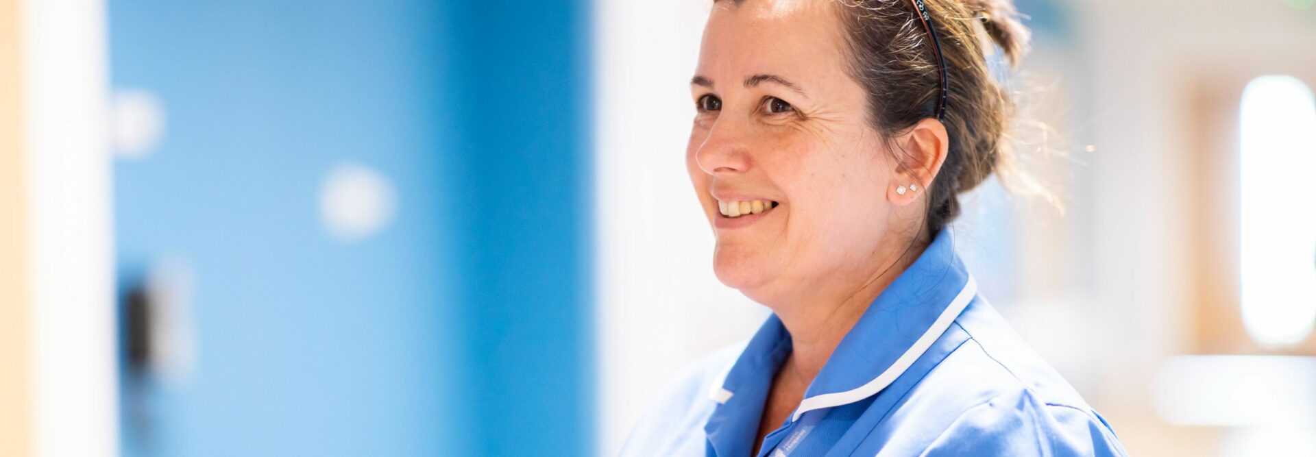
<instances>
[{"instance_id":1,"label":"entire blurred blue door area, light and dark, between white strips","mask_svg":"<svg viewBox=\"0 0 1316 457\"><path fill-rule=\"evenodd\" d=\"M109 0L124 454L592 453L588 7Z\"/></svg>"}]
</instances>

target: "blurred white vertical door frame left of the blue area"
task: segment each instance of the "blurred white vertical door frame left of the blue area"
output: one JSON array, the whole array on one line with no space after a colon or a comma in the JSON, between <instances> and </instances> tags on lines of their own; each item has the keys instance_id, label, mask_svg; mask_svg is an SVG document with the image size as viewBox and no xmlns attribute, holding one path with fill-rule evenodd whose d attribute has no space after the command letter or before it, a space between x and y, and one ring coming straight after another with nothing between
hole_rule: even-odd
<instances>
[{"instance_id":1,"label":"blurred white vertical door frame left of the blue area","mask_svg":"<svg viewBox=\"0 0 1316 457\"><path fill-rule=\"evenodd\" d=\"M118 454L104 0L20 4L36 456Z\"/></svg>"}]
</instances>

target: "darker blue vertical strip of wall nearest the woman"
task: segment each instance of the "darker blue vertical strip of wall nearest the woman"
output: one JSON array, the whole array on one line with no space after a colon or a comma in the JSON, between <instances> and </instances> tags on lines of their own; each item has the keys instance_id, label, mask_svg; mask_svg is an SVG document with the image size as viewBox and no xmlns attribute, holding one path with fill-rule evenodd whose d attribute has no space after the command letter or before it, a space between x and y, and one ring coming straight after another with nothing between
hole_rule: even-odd
<instances>
[{"instance_id":1,"label":"darker blue vertical strip of wall nearest the woman","mask_svg":"<svg viewBox=\"0 0 1316 457\"><path fill-rule=\"evenodd\" d=\"M476 454L592 453L588 1L457 1Z\"/></svg>"}]
</instances>

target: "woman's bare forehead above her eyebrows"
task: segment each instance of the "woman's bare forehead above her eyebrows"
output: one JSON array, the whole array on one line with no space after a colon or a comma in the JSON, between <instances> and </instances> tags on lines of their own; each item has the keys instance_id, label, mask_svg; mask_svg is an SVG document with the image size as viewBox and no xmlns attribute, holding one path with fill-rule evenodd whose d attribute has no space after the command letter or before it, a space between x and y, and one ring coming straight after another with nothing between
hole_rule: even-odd
<instances>
[{"instance_id":1,"label":"woman's bare forehead above her eyebrows","mask_svg":"<svg viewBox=\"0 0 1316 457\"><path fill-rule=\"evenodd\" d=\"M700 74L840 70L842 50L842 24L832 0L721 0L708 16L699 68Z\"/></svg>"}]
</instances>

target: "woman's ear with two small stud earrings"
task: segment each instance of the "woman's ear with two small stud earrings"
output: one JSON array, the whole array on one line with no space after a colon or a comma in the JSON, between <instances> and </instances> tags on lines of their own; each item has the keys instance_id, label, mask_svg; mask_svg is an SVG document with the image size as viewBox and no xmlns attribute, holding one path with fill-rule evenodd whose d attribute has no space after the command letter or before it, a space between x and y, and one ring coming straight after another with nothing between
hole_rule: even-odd
<instances>
[{"instance_id":1,"label":"woman's ear with two small stud earrings","mask_svg":"<svg viewBox=\"0 0 1316 457\"><path fill-rule=\"evenodd\" d=\"M896 173L887 195L892 203L905 205L926 192L937 178L950 150L950 137L941 121L928 117L896 138Z\"/></svg>"}]
</instances>

